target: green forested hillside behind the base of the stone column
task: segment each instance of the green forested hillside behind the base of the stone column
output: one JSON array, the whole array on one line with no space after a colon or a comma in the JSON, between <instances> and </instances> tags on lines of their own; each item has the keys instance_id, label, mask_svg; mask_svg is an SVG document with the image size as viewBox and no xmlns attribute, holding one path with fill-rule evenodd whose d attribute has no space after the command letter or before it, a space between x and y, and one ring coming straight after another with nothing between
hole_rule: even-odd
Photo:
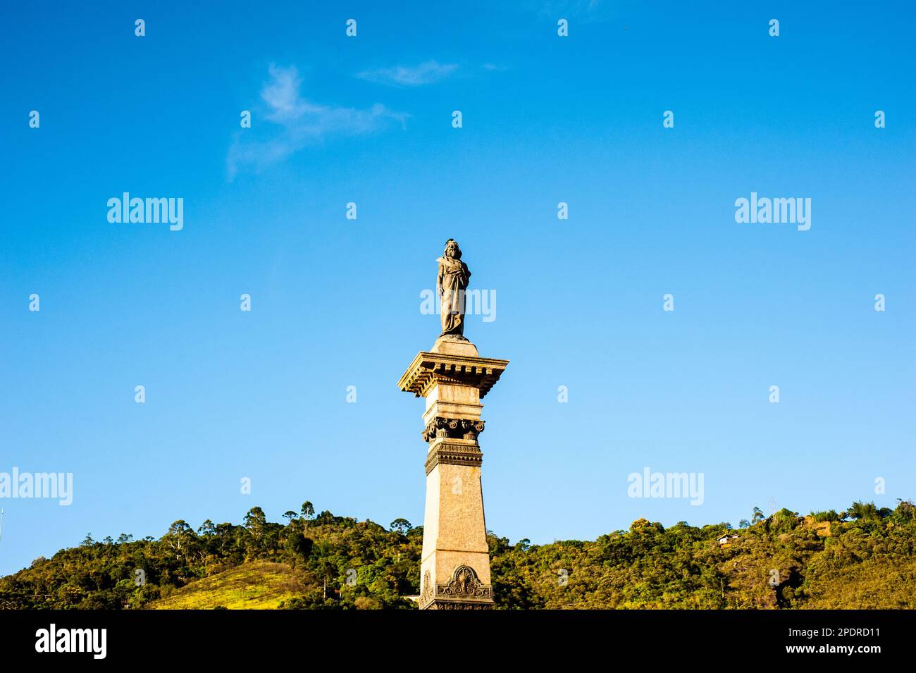
<instances>
[{"instance_id":1,"label":"green forested hillside behind the base of the stone column","mask_svg":"<svg viewBox=\"0 0 916 673\"><path fill-rule=\"evenodd\" d=\"M916 608L914 513L910 501L811 516L783 509L764 517L755 507L737 529L683 522L666 529L639 519L594 541L548 545L510 544L491 533L496 603ZM241 526L208 520L195 531L176 521L158 539L87 536L0 578L0 608L415 607L409 596L420 592L421 527L314 516L311 503L284 517L273 523L254 507Z\"/></svg>"}]
</instances>

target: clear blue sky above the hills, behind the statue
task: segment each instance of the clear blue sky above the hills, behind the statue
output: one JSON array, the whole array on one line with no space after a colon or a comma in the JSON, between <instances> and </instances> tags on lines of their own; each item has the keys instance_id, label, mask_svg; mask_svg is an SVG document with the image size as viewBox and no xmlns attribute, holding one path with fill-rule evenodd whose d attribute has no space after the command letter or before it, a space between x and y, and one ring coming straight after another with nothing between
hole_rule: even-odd
<instances>
[{"instance_id":1,"label":"clear blue sky above the hills, behind the statue","mask_svg":"<svg viewBox=\"0 0 916 673\"><path fill-rule=\"evenodd\" d=\"M0 472L74 494L0 500L0 572L305 499L419 525L396 384L449 237L496 292L465 333L511 361L500 535L916 496L911 6L191 5L5 9ZM125 191L183 229L109 223ZM736 223L752 191L810 198L811 229ZM703 505L628 497L646 466L703 472Z\"/></svg>"}]
</instances>

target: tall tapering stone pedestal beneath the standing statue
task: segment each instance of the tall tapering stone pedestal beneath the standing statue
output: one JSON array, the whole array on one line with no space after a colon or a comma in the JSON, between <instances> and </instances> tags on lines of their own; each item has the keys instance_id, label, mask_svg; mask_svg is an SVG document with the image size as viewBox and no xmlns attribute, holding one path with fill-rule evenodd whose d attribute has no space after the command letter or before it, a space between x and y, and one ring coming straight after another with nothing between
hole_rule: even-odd
<instances>
[{"instance_id":1,"label":"tall tapering stone pedestal beneath the standing statue","mask_svg":"<svg viewBox=\"0 0 916 673\"><path fill-rule=\"evenodd\" d=\"M419 353L398 382L426 399L420 609L493 606L477 437L484 431L480 400L507 364L478 356L471 342L445 337Z\"/></svg>"}]
</instances>

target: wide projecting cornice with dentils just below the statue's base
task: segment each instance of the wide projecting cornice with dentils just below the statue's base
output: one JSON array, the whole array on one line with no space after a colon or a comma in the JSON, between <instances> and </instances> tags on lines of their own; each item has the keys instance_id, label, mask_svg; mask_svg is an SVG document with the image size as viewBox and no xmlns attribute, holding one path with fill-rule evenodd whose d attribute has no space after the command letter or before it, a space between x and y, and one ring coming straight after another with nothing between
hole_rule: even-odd
<instances>
[{"instance_id":1,"label":"wide projecting cornice with dentils just below the statue's base","mask_svg":"<svg viewBox=\"0 0 916 673\"><path fill-rule=\"evenodd\" d=\"M427 396L433 385L470 385L484 397L506 370L508 360L469 355L421 352L400 377L398 387L414 396Z\"/></svg>"}]
</instances>

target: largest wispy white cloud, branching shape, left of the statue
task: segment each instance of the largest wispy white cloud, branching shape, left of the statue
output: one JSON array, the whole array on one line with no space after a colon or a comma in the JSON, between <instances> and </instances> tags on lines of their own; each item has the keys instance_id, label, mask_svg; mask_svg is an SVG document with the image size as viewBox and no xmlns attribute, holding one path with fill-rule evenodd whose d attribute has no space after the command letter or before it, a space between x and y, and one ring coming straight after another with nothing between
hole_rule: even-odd
<instances>
[{"instance_id":1,"label":"largest wispy white cloud, branching shape, left of the statue","mask_svg":"<svg viewBox=\"0 0 916 673\"><path fill-rule=\"evenodd\" d=\"M328 137L366 134L392 122L403 126L408 116L380 103L363 109L311 103L301 88L296 68L270 66L269 79L261 89L266 107L262 114L253 115L252 128L237 134L229 148L229 179L242 168L266 168ZM269 123L267 128L264 121ZM261 139L247 137L255 135Z\"/></svg>"}]
</instances>

